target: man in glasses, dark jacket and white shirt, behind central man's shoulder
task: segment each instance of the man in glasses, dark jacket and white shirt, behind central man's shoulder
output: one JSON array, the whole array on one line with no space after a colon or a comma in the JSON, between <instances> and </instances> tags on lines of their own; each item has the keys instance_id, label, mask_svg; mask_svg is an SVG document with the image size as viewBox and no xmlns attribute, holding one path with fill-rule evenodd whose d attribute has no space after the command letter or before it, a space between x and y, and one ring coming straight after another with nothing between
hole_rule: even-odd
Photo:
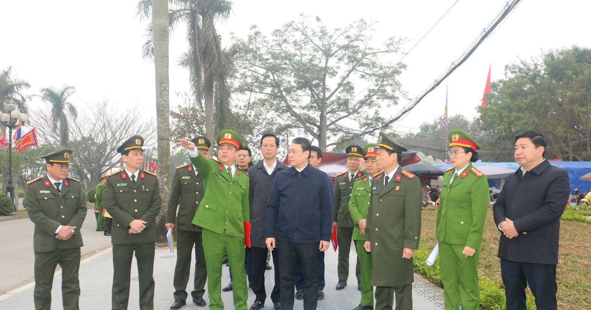
<instances>
[{"instance_id":1,"label":"man in glasses, dark jacket and white shirt, behind central man's shoulder","mask_svg":"<svg viewBox=\"0 0 591 310\"><path fill-rule=\"evenodd\" d=\"M265 246L265 226L267 224L267 203L269 194L278 172L287 168L277 160L279 138L272 133L265 133L261 138L262 161L248 168L251 178L250 205L251 205L251 254L252 254L252 291L255 293L255 302L251 310L258 310L265 304L267 292L265 292L265 266L267 265L267 246ZM276 310L281 309L279 299L279 269L277 266L278 252L272 252L273 265L275 265L275 285L271 292L271 302Z\"/></svg>"}]
</instances>

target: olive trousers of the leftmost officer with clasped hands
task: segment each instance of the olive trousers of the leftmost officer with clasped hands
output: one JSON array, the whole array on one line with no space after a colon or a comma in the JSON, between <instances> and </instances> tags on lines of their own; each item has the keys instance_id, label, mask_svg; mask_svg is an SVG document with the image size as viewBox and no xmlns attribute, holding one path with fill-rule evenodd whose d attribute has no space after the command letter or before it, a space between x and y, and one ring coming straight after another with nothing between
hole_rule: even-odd
<instances>
[{"instance_id":1,"label":"olive trousers of the leftmost officer with clasped hands","mask_svg":"<svg viewBox=\"0 0 591 310\"><path fill-rule=\"evenodd\" d=\"M80 309L80 248L35 252L35 310L51 309L51 287L56 266L61 267L61 298L64 310Z\"/></svg>"}]
</instances>

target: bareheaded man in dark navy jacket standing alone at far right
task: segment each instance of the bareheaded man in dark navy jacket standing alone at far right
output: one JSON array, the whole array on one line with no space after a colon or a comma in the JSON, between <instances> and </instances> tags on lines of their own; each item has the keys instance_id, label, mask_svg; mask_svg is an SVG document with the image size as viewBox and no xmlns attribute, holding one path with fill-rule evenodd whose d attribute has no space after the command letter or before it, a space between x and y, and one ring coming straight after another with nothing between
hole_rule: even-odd
<instances>
[{"instance_id":1,"label":"bareheaded man in dark navy jacket standing alone at far right","mask_svg":"<svg viewBox=\"0 0 591 310\"><path fill-rule=\"evenodd\" d=\"M506 178L493 206L502 231L498 256L506 309L525 310L529 285L537 309L556 309L560 216L569 200L569 175L544 159L546 139L533 131L515 137L521 167Z\"/></svg>"}]
</instances>

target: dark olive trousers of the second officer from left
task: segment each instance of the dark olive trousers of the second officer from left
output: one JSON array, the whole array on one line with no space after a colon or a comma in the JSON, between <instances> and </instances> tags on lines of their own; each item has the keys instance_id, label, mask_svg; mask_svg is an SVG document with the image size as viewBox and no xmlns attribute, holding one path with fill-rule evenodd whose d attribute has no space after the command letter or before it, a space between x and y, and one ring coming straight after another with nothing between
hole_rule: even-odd
<instances>
[{"instance_id":1,"label":"dark olive trousers of the second officer from left","mask_svg":"<svg viewBox=\"0 0 591 310\"><path fill-rule=\"evenodd\" d=\"M126 310L129 303L131 260L138 265L139 309L154 310L154 243L113 244L112 309Z\"/></svg>"}]
</instances>

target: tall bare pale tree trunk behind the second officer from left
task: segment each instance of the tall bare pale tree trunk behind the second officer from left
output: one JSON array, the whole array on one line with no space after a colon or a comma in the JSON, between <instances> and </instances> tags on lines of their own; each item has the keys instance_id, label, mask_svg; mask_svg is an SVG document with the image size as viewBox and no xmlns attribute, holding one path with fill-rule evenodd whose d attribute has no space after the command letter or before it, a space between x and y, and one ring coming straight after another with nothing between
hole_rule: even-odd
<instances>
[{"instance_id":1,"label":"tall bare pale tree trunk behind the second officer from left","mask_svg":"<svg viewBox=\"0 0 591 310\"><path fill-rule=\"evenodd\" d=\"M164 224L170 196L170 103L168 102L168 1L152 0L154 31L154 69L156 82L156 119L158 137L158 181L162 208L156 217L159 237L166 234ZM160 239L160 238L159 238Z\"/></svg>"}]
</instances>

